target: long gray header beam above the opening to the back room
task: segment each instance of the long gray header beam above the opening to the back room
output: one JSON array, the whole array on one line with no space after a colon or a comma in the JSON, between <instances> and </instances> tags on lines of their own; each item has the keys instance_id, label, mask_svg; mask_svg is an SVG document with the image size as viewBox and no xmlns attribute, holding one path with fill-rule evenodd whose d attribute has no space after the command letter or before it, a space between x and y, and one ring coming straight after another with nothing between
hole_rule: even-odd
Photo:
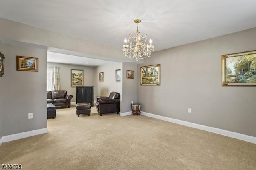
<instances>
[{"instance_id":1,"label":"long gray header beam above the opening to the back room","mask_svg":"<svg viewBox=\"0 0 256 170\"><path fill-rule=\"evenodd\" d=\"M115 47L74 38L4 18L0 18L0 25L0 38L2 39L76 51L80 54L87 54L87 57L105 59L108 61L119 61L120 56L122 56L122 50ZM124 60L131 62L131 59L127 57L122 58L122 61ZM135 61L135 59L133 61Z\"/></svg>"}]
</instances>

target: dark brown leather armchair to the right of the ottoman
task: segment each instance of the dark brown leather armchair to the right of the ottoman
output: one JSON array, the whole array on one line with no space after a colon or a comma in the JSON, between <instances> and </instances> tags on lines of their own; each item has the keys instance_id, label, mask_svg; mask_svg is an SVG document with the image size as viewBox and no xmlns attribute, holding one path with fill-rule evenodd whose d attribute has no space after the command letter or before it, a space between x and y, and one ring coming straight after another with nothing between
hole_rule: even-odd
<instances>
[{"instance_id":1,"label":"dark brown leather armchair to the right of the ottoman","mask_svg":"<svg viewBox=\"0 0 256 170\"><path fill-rule=\"evenodd\" d=\"M120 93L112 91L109 96L98 96L96 109L100 113L100 116L102 116L102 113L116 112L116 114L119 114Z\"/></svg>"}]
</instances>

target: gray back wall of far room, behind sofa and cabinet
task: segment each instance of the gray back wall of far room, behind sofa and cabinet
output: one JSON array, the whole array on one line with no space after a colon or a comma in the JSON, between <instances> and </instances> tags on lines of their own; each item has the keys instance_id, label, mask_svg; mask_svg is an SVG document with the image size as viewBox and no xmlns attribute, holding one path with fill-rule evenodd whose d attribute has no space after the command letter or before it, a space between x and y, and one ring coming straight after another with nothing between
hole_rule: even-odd
<instances>
[{"instance_id":1,"label":"gray back wall of far room, behind sofa and cabinet","mask_svg":"<svg viewBox=\"0 0 256 170\"><path fill-rule=\"evenodd\" d=\"M95 67L86 67L80 65L47 63L49 67L59 67L60 89L66 90L69 95L73 95L71 102L76 102L76 87L71 87L71 69L84 70L84 86L94 86Z\"/></svg>"}]
</instances>

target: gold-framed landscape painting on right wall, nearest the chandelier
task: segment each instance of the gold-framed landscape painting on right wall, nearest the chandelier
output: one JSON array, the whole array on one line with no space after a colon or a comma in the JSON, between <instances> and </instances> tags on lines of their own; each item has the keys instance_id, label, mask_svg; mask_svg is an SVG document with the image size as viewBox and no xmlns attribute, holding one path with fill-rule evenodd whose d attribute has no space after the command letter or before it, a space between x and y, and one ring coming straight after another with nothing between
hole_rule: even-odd
<instances>
[{"instance_id":1,"label":"gold-framed landscape painting on right wall, nearest the chandelier","mask_svg":"<svg viewBox=\"0 0 256 170\"><path fill-rule=\"evenodd\" d=\"M140 85L160 85L160 64L140 67Z\"/></svg>"}]
</instances>

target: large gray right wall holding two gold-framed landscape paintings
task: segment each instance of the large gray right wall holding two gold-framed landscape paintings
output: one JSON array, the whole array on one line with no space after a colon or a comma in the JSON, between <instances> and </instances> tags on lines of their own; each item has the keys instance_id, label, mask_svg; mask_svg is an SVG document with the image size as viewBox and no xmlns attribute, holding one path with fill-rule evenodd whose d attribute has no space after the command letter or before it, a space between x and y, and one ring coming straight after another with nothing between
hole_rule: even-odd
<instances>
[{"instance_id":1,"label":"large gray right wall holding two gold-framed landscape paintings","mask_svg":"<svg viewBox=\"0 0 256 170\"><path fill-rule=\"evenodd\" d=\"M141 86L142 111L256 137L256 87L222 87L221 55L256 49L256 28L154 52L161 85ZM188 108L192 113L188 113Z\"/></svg>"}]
</instances>

